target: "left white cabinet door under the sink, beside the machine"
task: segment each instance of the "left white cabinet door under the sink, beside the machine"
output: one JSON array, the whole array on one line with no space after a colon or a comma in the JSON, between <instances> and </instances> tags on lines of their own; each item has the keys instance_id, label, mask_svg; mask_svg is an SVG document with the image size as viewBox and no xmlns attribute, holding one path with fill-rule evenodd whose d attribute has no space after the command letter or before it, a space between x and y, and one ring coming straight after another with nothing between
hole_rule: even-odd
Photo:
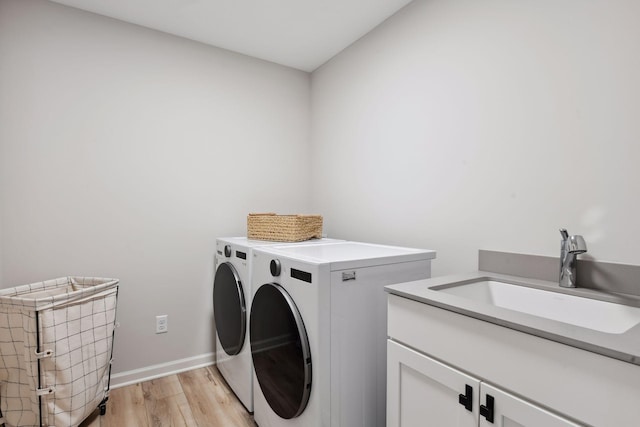
<instances>
[{"instance_id":1,"label":"left white cabinet door under the sink, beside the machine","mask_svg":"<svg viewBox=\"0 0 640 427\"><path fill-rule=\"evenodd\" d=\"M479 390L477 379L387 341L387 427L476 427Z\"/></svg>"}]
</instances>

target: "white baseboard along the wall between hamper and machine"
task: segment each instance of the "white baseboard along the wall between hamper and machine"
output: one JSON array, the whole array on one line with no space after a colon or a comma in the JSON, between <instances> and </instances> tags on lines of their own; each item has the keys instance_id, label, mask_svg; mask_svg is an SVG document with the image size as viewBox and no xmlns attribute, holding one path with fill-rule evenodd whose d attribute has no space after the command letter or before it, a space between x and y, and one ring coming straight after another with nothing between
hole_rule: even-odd
<instances>
[{"instance_id":1,"label":"white baseboard along the wall between hamper and machine","mask_svg":"<svg viewBox=\"0 0 640 427\"><path fill-rule=\"evenodd\" d=\"M111 387L118 388L127 385L149 381L155 378L166 377L191 369L202 368L215 364L215 353L205 353L186 359L173 360L158 365L146 366L131 371L119 372L111 375Z\"/></svg>"}]
</instances>

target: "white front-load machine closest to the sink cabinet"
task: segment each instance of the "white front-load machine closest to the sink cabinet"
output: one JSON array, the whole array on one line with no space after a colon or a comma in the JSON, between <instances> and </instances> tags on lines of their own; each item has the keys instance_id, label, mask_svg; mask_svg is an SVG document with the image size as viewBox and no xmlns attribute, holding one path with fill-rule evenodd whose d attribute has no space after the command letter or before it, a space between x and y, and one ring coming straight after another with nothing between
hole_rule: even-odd
<instances>
[{"instance_id":1,"label":"white front-load machine closest to the sink cabinet","mask_svg":"<svg viewBox=\"0 0 640 427\"><path fill-rule=\"evenodd\" d=\"M357 242L256 248L250 344L260 427L383 427L384 286L435 252Z\"/></svg>"}]
</instances>

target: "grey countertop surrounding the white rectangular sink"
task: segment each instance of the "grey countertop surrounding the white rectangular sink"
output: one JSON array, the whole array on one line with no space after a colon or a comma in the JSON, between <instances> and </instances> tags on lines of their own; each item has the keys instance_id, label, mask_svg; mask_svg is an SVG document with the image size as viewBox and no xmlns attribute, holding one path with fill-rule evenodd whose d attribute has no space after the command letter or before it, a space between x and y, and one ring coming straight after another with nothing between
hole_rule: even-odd
<instances>
[{"instance_id":1,"label":"grey countertop surrounding the white rectangular sink","mask_svg":"<svg viewBox=\"0 0 640 427\"><path fill-rule=\"evenodd\" d=\"M599 332L531 314L521 313L433 288L471 280L497 280L602 301L640 307L640 298L584 288L561 288L555 282L477 271L387 286L387 292L465 316L515 329L541 338L640 365L640 325L621 334Z\"/></svg>"}]
</instances>

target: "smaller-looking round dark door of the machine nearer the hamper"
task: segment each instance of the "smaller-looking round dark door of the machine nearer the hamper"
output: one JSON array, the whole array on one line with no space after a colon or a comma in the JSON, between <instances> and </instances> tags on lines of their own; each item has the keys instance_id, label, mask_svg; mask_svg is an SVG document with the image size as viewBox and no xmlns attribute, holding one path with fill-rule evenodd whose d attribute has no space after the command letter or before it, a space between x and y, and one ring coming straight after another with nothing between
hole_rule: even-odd
<instances>
[{"instance_id":1,"label":"smaller-looking round dark door of the machine nearer the hamper","mask_svg":"<svg viewBox=\"0 0 640 427\"><path fill-rule=\"evenodd\" d=\"M240 353L247 333L247 306L238 272L228 262L218 266L213 280L213 315L224 351L230 356Z\"/></svg>"}]
</instances>

